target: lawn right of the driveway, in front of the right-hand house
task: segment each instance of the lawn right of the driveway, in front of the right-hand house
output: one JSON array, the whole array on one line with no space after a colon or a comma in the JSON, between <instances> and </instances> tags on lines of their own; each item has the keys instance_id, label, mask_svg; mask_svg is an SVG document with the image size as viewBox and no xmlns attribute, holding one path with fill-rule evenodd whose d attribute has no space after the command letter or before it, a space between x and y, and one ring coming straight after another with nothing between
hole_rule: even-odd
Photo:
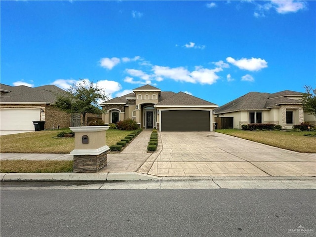
<instances>
[{"instance_id":1,"label":"lawn right of the driveway, in front of the right-hand house","mask_svg":"<svg viewBox=\"0 0 316 237\"><path fill-rule=\"evenodd\" d=\"M316 137L304 136L304 134L316 134L316 132L248 131L239 129L218 129L215 131L295 152L316 153Z\"/></svg>"}]
</instances>

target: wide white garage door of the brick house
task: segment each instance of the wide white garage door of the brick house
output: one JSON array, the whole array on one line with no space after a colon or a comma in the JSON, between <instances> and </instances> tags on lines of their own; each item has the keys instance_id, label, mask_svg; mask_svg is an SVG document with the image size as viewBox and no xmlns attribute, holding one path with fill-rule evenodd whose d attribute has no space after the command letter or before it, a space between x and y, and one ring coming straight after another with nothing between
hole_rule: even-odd
<instances>
[{"instance_id":1,"label":"wide white garage door of the brick house","mask_svg":"<svg viewBox=\"0 0 316 237\"><path fill-rule=\"evenodd\" d=\"M33 121L40 120L40 109L1 109L1 135L34 131Z\"/></svg>"}]
</instances>

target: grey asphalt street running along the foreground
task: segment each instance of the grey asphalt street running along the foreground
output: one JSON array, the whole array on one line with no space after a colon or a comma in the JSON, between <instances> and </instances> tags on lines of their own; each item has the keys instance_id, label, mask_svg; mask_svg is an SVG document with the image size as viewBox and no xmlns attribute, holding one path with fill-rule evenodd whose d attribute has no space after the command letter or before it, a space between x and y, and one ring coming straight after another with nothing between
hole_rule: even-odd
<instances>
[{"instance_id":1,"label":"grey asphalt street running along the foreground","mask_svg":"<svg viewBox=\"0 0 316 237\"><path fill-rule=\"evenodd\" d=\"M314 237L316 190L1 190L1 237Z\"/></svg>"}]
</instances>

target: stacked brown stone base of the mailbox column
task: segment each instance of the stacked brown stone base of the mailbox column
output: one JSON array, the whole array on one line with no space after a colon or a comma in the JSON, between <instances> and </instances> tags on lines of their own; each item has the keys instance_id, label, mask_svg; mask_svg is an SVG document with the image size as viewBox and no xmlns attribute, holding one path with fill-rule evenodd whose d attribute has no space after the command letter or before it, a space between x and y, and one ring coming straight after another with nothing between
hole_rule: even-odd
<instances>
[{"instance_id":1,"label":"stacked brown stone base of the mailbox column","mask_svg":"<svg viewBox=\"0 0 316 237\"><path fill-rule=\"evenodd\" d=\"M74 155L74 173L96 173L108 164L108 151L100 155Z\"/></svg>"}]
</instances>

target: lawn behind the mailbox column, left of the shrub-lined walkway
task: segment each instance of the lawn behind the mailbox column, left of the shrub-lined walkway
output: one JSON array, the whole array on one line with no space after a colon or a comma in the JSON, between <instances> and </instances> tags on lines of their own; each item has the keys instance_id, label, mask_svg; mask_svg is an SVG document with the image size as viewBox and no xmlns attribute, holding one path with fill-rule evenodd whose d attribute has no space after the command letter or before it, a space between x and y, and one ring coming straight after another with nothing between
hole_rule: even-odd
<instances>
[{"instance_id":1,"label":"lawn behind the mailbox column, left of the shrub-lined walkway","mask_svg":"<svg viewBox=\"0 0 316 237\"><path fill-rule=\"evenodd\" d=\"M75 138L54 138L60 130L46 130L0 136L0 153L65 153L74 150ZM132 131L106 131L106 145L115 145Z\"/></svg>"}]
</instances>

